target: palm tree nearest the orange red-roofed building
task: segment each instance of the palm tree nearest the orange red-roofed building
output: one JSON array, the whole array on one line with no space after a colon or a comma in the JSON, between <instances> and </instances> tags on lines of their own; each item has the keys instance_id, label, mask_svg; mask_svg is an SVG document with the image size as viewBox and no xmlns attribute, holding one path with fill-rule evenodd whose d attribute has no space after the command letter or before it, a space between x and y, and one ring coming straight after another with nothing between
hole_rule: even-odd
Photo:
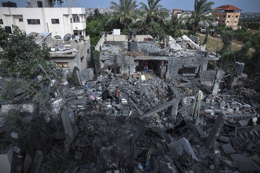
<instances>
[{"instance_id":1,"label":"palm tree nearest the orange red-roofed building","mask_svg":"<svg viewBox=\"0 0 260 173\"><path fill-rule=\"evenodd\" d=\"M209 15L209 13L213 12L212 5L214 4L215 2L208 2L208 0L195 0L194 11L192 11L191 15L182 17L181 20L191 22L193 24L192 32L195 34L201 21L206 21L210 24L218 20L217 16Z\"/></svg>"}]
</instances>

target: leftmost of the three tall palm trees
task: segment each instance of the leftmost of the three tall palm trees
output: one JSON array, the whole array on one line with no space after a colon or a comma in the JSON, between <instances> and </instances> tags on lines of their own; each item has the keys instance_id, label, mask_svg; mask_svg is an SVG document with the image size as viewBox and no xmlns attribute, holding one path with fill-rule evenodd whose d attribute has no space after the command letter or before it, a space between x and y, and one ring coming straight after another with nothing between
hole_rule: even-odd
<instances>
[{"instance_id":1,"label":"leftmost of the three tall palm trees","mask_svg":"<svg viewBox=\"0 0 260 173\"><path fill-rule=\"evenodd\" d=\"M115 10L117 19L120 20L120 23L124 25L125 29L134 19L133 11L138 6L136 0L119 0L119 4L112 1L111 9Z\"/></svg>"}]
</instances>

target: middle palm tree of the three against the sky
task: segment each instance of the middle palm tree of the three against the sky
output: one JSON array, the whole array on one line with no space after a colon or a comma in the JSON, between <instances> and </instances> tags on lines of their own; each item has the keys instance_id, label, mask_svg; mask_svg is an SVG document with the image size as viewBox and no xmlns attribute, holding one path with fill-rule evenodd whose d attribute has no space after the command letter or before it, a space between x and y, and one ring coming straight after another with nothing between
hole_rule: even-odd
<instances>
[{"instance_id":1,"label":"middle palm tree of the three against the sky","mask_svg":"<svg viewBox=\"0 0 260 173\"><path fill-rule=\"evenodd\" d=\"M146 11L146 23L151 21L162 21L168 16L168 11L166 8L163 8L161 4L158 4L161 0L147 0L148 6L140 2L142 8Z\"/></svg>"}]
</instances>

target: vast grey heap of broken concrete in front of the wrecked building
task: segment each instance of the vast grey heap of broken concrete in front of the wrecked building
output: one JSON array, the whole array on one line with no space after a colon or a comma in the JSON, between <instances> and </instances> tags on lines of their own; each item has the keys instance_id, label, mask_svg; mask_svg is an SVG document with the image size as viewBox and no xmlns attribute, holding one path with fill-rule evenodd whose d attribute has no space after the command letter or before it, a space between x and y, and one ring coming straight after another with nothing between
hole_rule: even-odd
<instances>
[{"instance_id":1,"label":"vast grey heap of broken concrete in front of the wrecked building","mask_svg":"<svg viewBox=\"0 0 260 173\"><path fill-rule=\"evenodd\" d=\"M141 78L101 76L88 82L99 109L83 89L67 92L74 130L68 172L258 172L257 110L233 96L207 95L198 80ZM121 104L114 97L103 102L101 93L111 88L114 94L115 87ZM199 90L204 98L192 123Z\"/></svg>"}]
</instances>

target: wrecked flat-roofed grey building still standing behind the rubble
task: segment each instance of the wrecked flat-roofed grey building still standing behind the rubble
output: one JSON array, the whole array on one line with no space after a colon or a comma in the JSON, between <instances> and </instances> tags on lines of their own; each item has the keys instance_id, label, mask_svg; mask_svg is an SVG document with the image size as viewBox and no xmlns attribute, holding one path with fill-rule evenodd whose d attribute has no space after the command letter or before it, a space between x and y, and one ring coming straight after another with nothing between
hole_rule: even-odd
<instances>
[{"instance_id":1,"label":"wrecked flat-roofed grey building still standing behind the rubble","mask_svg":"<svg viewBox=\"0 0 260 173\"><path fill-rule=\"evenodd\" d=\"M207 70L209 60L219 59L216 53L205 51L204 45L199 46L198 38L196 40L194 36L190 39L184 35L176 40L167 36L163 47L149 35L134 37L128 41L126 35L103 36L96 45L97 49L101 47L101 68L108 66L110 70L113 66L112 73L134 74L142 71L143 63L147 61L150 71L168 79L169 76L198 76ZM135 50L129 50L132 45L136 46Z\"/></svg>"}]
</instances>

